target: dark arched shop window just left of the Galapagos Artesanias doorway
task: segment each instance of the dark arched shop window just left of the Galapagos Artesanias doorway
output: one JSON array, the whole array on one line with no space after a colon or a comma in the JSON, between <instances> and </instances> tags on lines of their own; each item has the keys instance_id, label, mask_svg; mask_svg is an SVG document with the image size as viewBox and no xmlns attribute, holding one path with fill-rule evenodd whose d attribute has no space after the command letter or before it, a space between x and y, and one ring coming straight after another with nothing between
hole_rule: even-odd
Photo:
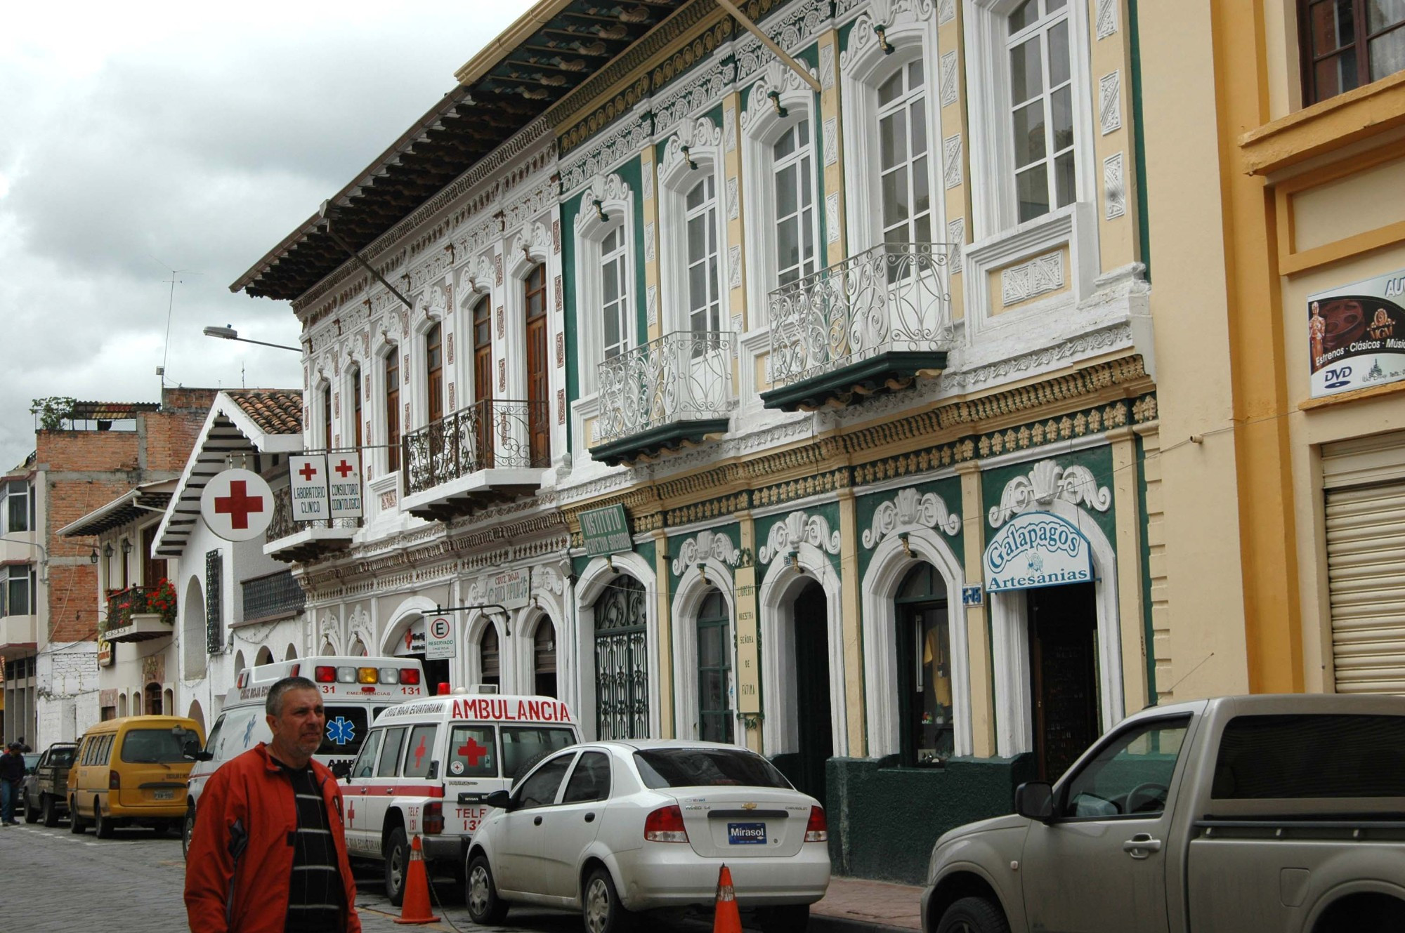
<instances>
[{"instance_id":1,"label":"dark arched shop window just left of the Galapagos Artesanias doorway","mask_svg":"<svg viewBox=\"0 0 1405 933\"><path fill-rule=\"evenodd\" d=\"M903 764L951 756L951 627L947 585L930 563L908 572L898 604L898 717Z\"/></svg>"}]
</instances>

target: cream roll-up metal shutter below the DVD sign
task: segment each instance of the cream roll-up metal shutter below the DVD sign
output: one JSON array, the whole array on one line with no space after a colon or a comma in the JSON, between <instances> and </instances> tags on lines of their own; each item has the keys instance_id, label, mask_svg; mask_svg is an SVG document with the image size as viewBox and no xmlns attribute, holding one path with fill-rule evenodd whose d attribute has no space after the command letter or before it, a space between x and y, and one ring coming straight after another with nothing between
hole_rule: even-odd
<instances>
[{"instance_id":1,"label":"cream roll-up metal shutter below the DVD sign","mask_svg":"<svg viewBox=\"0 0 1405 933\"><path fill-rule=\"evenodd\" d=\"M1405 433L1328 444L1326 563L1338 693L1405 693Z\"/></svg>"}]
</instances>

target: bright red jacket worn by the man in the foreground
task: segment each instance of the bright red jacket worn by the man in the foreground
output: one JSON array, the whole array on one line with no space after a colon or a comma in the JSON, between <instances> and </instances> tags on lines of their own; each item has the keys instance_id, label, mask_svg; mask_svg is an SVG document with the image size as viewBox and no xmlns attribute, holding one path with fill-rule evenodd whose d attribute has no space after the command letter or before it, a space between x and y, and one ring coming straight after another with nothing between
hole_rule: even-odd
<instances>
[{"instance_id":1,"label":"bright red jacket worn by the man in the foreground","mask_svg":"<svg viewBox=\"0 0 1405 933\"><path fill-rule=\"evenodd\" d=\"M346 888L346 933L361 933L355 881L347 861L341 788L320 762L313 780ZM260 742L225 762L205 784L185 859L185 915L192 933L284 933L292 877L289 833L298 828L292 783Z\"/></svg>"}]
</instances>

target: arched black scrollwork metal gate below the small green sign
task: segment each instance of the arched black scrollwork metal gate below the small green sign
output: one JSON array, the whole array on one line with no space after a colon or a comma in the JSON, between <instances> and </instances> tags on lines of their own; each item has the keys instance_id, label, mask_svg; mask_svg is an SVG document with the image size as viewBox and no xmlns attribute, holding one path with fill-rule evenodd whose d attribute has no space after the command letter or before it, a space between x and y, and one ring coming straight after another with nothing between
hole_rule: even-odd
<instances>
[{"instance_id":1,"label":"arched black scrollwork metal gate below the small green sign","mask_svg":"<svg viewBox=\"0 0 1405 933\"><path fill-rule=\"evenodd\" d=\"M617 578L596 600L596 733L649 736L649 652L643 585Z\"/></svg>"}]
</instances>

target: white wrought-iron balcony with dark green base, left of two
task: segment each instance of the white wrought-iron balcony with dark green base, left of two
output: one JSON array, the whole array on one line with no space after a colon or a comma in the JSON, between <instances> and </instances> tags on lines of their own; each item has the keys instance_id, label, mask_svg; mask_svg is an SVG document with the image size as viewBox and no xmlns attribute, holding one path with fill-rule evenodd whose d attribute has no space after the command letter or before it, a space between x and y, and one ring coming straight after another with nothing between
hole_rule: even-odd
<instances>
[{"instance_id":1,"label":"white wrought-iron balcony with dark green base, left of two","mask_svg":"<svg viewBox=\"0 0 1405 933\"><path fill-rule=\"evenodd\" d=\"M601 363L590 455L613 466L726 433L736 406L735 340L729 333L676 330Z\"/></svg>"}]
</instances>

